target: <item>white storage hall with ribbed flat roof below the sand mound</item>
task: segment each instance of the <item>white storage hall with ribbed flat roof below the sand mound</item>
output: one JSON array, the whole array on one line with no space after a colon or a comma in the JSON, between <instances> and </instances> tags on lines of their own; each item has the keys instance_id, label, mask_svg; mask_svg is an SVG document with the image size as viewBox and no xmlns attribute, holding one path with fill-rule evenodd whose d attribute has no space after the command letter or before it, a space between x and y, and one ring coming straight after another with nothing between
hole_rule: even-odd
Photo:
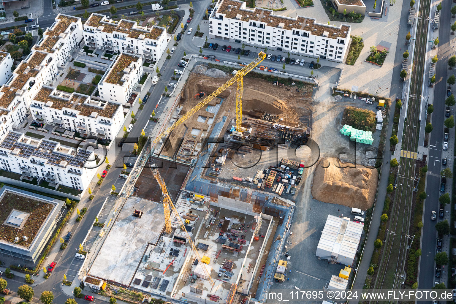
<instances>
[{"instance_id":1,"label":"white storage hall with ribbed flat roof below the sand mound","mask_svg":"<svg viewBox=\"0 0 456 304\"><path fill-rule=\"evenodd\" d=\"M328 215L316 248L319 259L327 259L350 266L356 255L364 225L348 217Z\"/></svg>"}]
</instances>

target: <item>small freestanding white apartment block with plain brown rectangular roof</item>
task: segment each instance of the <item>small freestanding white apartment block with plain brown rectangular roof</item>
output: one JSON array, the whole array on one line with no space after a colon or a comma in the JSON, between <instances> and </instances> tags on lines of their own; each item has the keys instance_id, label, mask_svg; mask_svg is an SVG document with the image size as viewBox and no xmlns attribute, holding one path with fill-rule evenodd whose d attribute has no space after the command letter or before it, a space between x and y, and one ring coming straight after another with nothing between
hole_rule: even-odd
<instances>
[{"instance_id":1,"label":"small freestanding white apartment block with plain brown rectangular roof","mask_svg":"<svg viewBox=\"0 0 456 304\"><path fill-rule=\"evenodd\" d=\"M98 82L101 100L128 104L135 84L143 75L142 57L121 53Z\"/></svg>"}]
</instances>

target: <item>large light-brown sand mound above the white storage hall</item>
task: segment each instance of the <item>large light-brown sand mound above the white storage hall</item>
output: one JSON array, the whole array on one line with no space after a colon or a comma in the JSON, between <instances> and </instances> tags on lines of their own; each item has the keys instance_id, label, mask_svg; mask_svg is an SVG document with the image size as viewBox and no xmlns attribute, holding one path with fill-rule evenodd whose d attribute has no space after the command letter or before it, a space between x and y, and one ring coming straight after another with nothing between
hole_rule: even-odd
<instances>
[{"instance_id":1,"label":"large light-brown sand mound above the white storage hall","mask_svg":"<svg viewBox=\"0 0 456 304\"><path fill-rule=\"evenodd\" d=\"M322 159L315 170L312 195L325 203L370 208L377 191L378 171L361 165L338 168L344 166L354 165L341 164L335 158Z\"/></svg>"}]
</instances>

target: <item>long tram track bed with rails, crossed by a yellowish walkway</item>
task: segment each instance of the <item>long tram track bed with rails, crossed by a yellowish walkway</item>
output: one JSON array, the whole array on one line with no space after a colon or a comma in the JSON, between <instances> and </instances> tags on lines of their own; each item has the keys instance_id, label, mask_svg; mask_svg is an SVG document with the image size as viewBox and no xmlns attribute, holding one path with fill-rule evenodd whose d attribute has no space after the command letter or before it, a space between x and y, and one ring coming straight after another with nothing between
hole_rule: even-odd
<instances>
[{"instance_id":1,"label":"long tram track bed with rails, crossed by a yellowish walkway","mask_svg":"<svg viewBox=\"0 0 456 304\"><path fill-rule=\"evenodd\" d=\"M418 20L415 37L415 56L411 72L410 95L408 98L407 118L404 122L402 149L416 152L418 146L420 124L420 98L425 72L425 54L427 43L427 26L430 10L430 0L420 2L420 19ZM400 288L405 279L404 266L407 257L407 246L410 239L407 237L410 227L412 211L413 189L415 186L415 160L402 157L397 171L397 184L394 201L390 205L389 226L386 232L381 262L376 270L378 273L376 289ZM396 302L394 300L391 300ZM378 301L372 301L378 303Z\"/></svg>"}]
</instances>

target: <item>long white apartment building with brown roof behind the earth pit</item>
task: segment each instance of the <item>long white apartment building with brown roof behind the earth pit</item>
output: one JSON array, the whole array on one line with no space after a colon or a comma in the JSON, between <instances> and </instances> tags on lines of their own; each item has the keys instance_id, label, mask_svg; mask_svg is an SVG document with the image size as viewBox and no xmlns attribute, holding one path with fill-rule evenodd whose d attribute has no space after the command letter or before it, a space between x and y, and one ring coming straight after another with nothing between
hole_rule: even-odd
<instances>
[{"instance_id":1,"label":"long white apartment building with brown roof behind the earth pit","mask_svg":"<svg viewBox=\"0 0 456 304\"><path fill-rule=\"evenodd\" d=\"M317 23L303 16L290 18L271 10L247 9L245 2L219 0L209 17L209 37L267 47L298 55L342 62L351 27Z\"/></svg>"}]
</instances>

